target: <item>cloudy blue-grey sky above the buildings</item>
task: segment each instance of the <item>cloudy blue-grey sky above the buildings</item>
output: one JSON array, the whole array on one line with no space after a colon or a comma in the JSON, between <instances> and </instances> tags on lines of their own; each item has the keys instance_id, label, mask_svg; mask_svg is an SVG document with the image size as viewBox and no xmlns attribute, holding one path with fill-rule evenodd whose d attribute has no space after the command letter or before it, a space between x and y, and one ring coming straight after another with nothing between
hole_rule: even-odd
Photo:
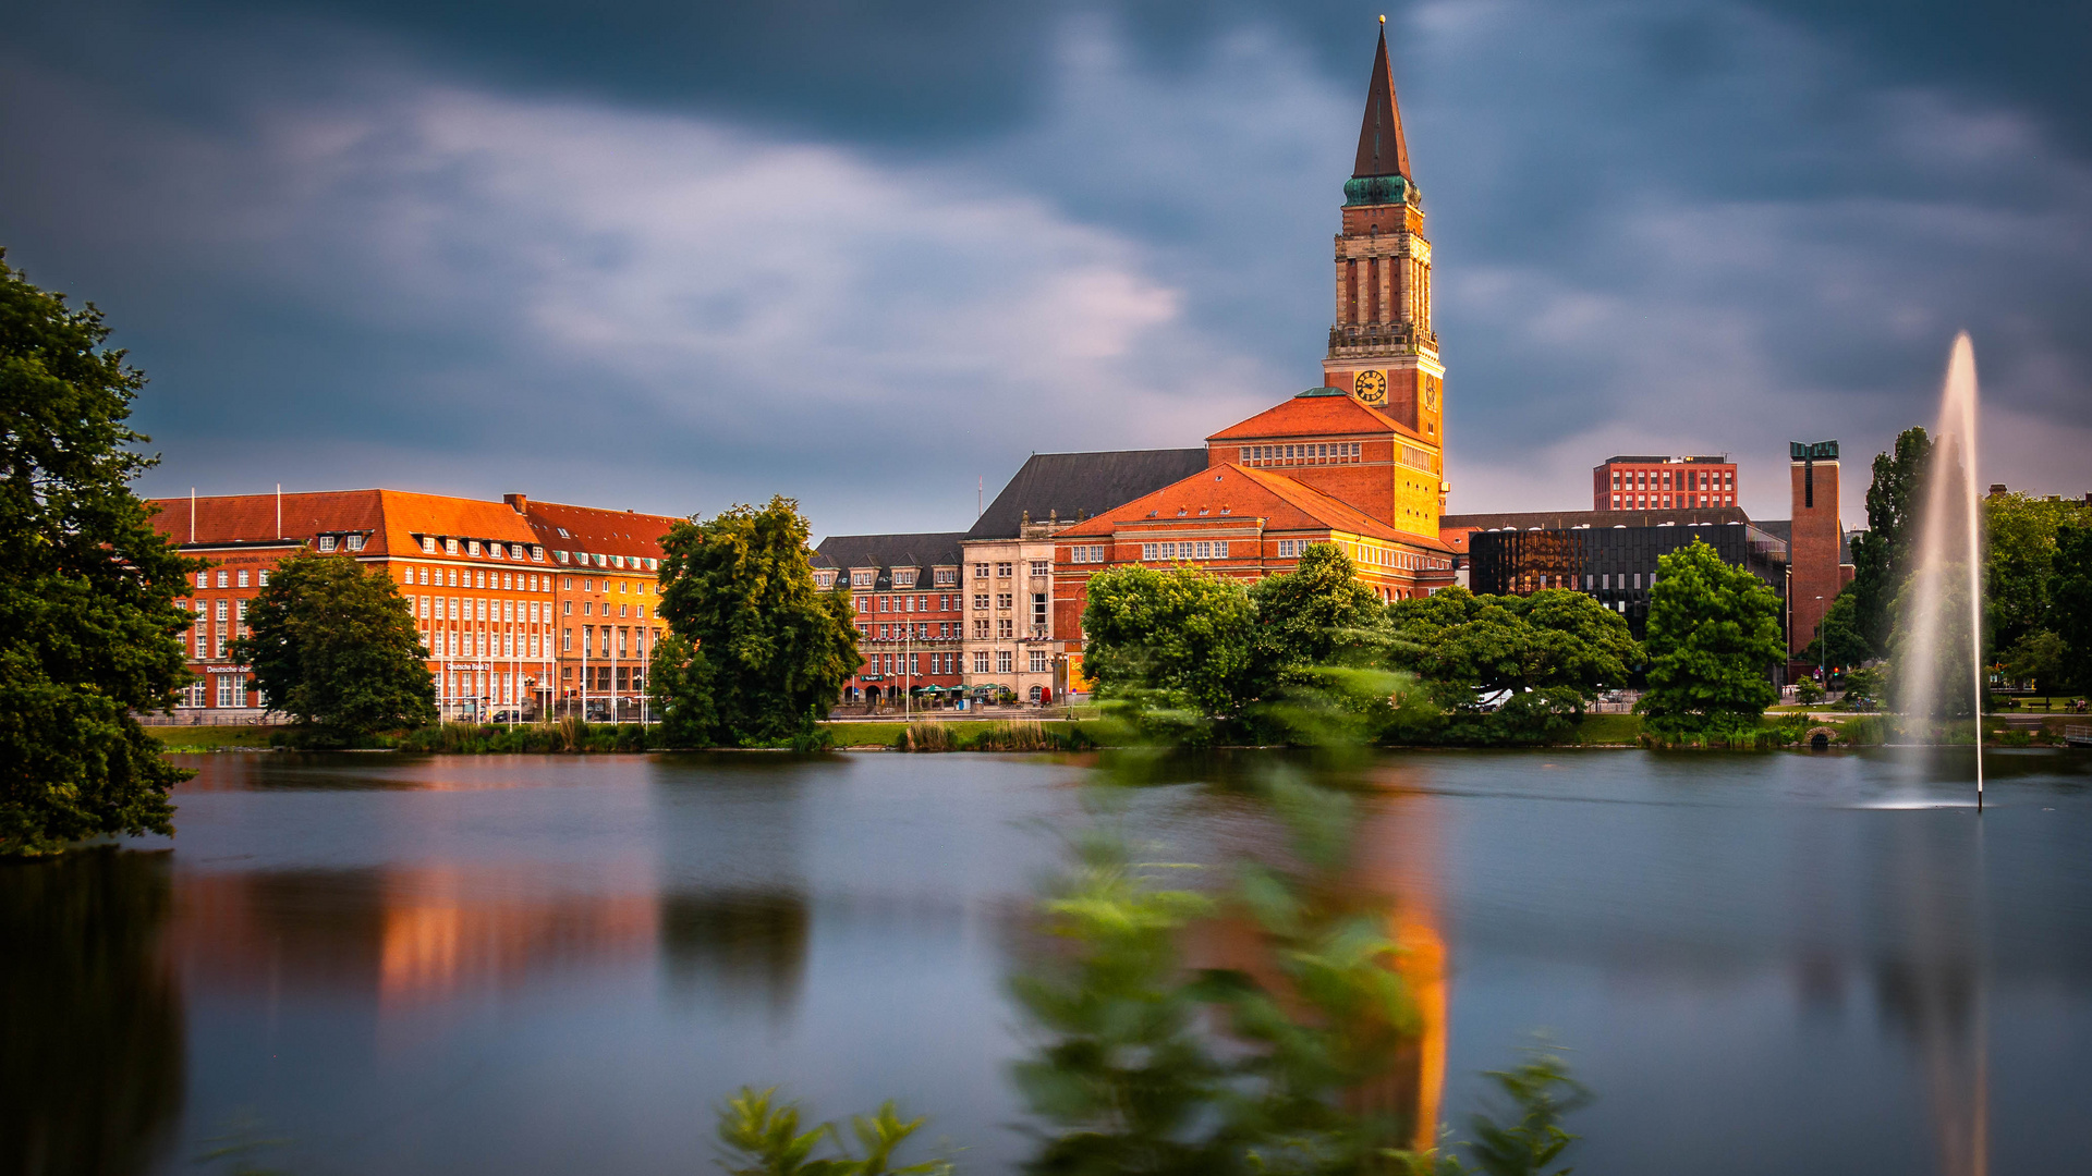
<instances>
[{"instance_id":1,"label":"cloudy blue-grey sky above the buildings","mask_svg":"<svg viewBox=\"0 0 2092 1176\"><path fill-rule=\"evenodd\" d=\"M1383 0L1385 2L1385 0ZM0 245L151 383L146 494L964 529L1029 452L1322 383L1379 6L79 0L0 13ZM1385 8L1450 511L1929 425L2092 490L2092 6Z\"/></svg>"}]
</instances>

